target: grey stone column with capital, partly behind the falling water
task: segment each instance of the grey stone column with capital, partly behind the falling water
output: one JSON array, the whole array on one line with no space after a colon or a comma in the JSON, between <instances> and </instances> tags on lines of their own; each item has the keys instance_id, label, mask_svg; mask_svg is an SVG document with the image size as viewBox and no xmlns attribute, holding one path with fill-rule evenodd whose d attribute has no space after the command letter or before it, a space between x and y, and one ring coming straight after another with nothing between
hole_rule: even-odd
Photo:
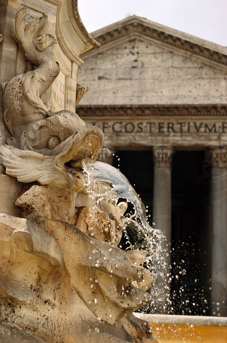
<instances>
[{"instance_id":1,"label":"grey stone column with capital, partly behind the falling water","mask_svg":"<svg viewBox=\"0 0 227 343\"><path fill-rule=\"evenodd\" d=\"M153 186L153 222L155 229L161 230L165 236L162 241L163 261L158 276L157 287L162 287L162 301L159 313L168 313L170 302L170 274L171 274L171 167L173 148L171 146L153 147L154 186ZM158 304L157 304L158 305Z\"/></svg>"}]
</instances>

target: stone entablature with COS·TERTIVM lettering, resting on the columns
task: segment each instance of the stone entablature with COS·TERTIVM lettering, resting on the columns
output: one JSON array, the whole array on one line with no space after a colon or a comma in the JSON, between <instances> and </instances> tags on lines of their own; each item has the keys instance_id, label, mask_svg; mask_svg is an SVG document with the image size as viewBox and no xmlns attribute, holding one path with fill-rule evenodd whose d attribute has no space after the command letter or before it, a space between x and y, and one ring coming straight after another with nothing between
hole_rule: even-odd
<instances>
[{"instance_id":1,"label":"stone entablature with COS\u00b7TERTIVM lettering, resting on the columns","mask_svg":"<svg viewBox=\"0 0 227 343\"><path fill-rule=\"evenodd\" d=\"M226 106L80 106L77 113L101 128L104 145L115 149L171 145L175 149L203 150L227 146Z\"/></svg>"}]
</instances>

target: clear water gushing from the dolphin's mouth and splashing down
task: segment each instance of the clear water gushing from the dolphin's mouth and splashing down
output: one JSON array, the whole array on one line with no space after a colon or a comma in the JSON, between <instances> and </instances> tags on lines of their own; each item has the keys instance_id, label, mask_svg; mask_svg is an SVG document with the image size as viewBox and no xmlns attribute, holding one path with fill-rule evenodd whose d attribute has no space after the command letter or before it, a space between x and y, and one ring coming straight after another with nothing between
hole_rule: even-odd
<instances>
[{"instance_id":1,"label":"clear water gushing from the dolphin's mouth and splashing down","mask_svg":"<svg viewBox=\"0 0 227 343\"><path fill-rule=\"evenodd\" d=\"M164 249L163 244L165 238L160 230L149 225L146 218L146 208L142 200L134 188L130 185L128 179L115 167L99 161L94 161L90 158L84 158L82 168L85 172L87 185L89 186L89 197L99 201L105 199L117 204L119 198L125 199L126 202L132 203L134 213L127 214L123 219L124 233L129 244L129 249L146 249L149 256L146 259L146 268L149 269L152 275L157 280L152 285L152 303L156 303L156 307L161 311L165 308L162 299L165 298L165 287L160 287L160 284L166 284L166 272L164 266ZM100 191L94 185L106 184L111 188ZM102 189L102 188L101 188ZM136 240L135 240L136 238ZM132 240L134 239L133 243ZM168 276L167 276L168 278ZM168 289L167 289L168 293ZM158 305L160 303L160 306ZM152 305L153 306L153 305ZM147 309L150 311L149 309Z\"/></svg>"}]
</instances>

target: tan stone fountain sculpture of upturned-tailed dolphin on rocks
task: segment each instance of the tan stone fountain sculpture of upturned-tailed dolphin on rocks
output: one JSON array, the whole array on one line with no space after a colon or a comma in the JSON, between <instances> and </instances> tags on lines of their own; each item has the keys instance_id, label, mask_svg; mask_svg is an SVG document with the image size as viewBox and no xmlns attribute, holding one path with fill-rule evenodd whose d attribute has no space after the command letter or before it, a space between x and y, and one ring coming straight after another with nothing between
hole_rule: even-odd
<instances>
[{"instance_id":1,"label":"tan stone fountain sculpture of upturned-tailed dolphin on rocks","mask_svg":"<svg viewBox=\"0 0 227 343\"><path fill-rule=\"evenodd\" d=\"M24 187L19 217L0 214L1 342L153 342L132 315L151 301L138 288L142 274L149 279L139 267L145 252L128 259L115 244L126 205L91 204L78 163L97 158L103 132L40 98L59 73L41 52L56 43L47 26L47 16L26 21L26 8L17 12L12 35L33 67L2 85L12 137L1 159Z\"/></svg>"}]
</instances>

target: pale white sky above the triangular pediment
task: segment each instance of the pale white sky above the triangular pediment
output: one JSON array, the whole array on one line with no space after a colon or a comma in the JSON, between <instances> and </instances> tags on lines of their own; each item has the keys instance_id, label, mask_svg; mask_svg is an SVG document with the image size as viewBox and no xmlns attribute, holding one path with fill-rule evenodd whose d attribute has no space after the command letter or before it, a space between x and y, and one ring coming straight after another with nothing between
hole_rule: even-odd
<instances>
[{"instance_id":1,"label":"pale white sky above the triangular pediment","mask_svg":"<svg viewBox=\"0 0 227 343\"><path fill-rule=\"evenodd\" d=\"M227 0L78 0L78 8L88 32L135 14L227 46Z\"/></svg>"}]
</instances>

